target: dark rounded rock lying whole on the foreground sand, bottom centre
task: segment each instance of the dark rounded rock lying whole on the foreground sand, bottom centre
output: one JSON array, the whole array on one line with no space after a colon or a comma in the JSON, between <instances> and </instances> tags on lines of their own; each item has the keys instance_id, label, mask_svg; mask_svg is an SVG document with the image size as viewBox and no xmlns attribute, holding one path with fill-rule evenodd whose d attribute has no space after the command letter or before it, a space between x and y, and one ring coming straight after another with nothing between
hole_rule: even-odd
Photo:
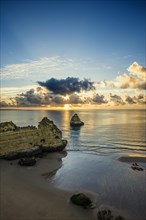
<instances>
[{"instance_id":1,"label":"dark rounded rock lying whole on the foreground sand, bottom centre","mask_svg":"<svg viewBox=\"0 0 146 220\"><path fill-rule=\"evenodd\" d=\"M75 194L70 198L71 202L75 205L83 206L84 208L92 208L93 203L89 197L83 193Z\"/></svg>"}]
</instances>

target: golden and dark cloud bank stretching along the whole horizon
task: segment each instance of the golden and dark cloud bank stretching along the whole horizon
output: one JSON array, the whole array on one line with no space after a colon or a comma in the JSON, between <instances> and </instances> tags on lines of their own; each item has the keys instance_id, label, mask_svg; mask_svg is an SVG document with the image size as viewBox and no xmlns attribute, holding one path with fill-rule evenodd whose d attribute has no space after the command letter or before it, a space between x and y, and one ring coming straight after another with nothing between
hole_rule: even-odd
<instances>
[{"instance_id":1,"label":"golden and dark cloud bank stretching along the whole horizon","mask_svg":"<svg viewBox=\"0 0 146 220\"><path fill-rule=\"evenodd\" d=\"M89 79L80 80L76 77L50 78L44 82L38 81L39 86L37 88L28 89L8 100L2 100L0 106L51 107L64 106L65 104L72 106L84 104L134 106L146 104L144 94L146 68L134 62L127 70L129 73L119 75L112 81L92 82ZM131 92L129 93L129 91Z\"/></svg>"}]
</instances>

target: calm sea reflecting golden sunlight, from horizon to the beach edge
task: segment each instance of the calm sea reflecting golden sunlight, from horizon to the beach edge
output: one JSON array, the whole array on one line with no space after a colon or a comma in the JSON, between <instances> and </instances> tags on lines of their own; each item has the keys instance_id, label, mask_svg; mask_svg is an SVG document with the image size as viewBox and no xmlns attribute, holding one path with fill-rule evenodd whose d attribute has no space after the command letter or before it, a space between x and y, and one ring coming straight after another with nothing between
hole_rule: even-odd
<instances>
[{"instance_id":1,"label":"calm sea reflecting golden sunlight, from horizon to the beach edge","mask_svg":"<svg viewBox=\"0 0 146 220\"><path fill-rule=\"evenodd\" d=\"M70 128L75 111L2 110L1 121L18 126L35 125L48 117L68 140L68 151L94 154L144 154L146 151L146 112L143 110L78 110L84 121L81 128Z\"/></svg>"}]
</instances>

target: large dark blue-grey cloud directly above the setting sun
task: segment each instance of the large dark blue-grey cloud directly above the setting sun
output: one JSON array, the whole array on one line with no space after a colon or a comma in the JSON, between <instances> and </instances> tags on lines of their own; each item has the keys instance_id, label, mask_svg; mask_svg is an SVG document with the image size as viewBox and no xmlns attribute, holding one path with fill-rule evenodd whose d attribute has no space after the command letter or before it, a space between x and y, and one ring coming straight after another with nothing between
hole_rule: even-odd
<instances>
[{"instance_id":1,"label":"large dark blue-grey cloud directly above the setting sun","mask_svg":"<svg viewBox=\"0 0 146 220\"><path fill-rule=\"evenodd\" d=\"M40 86L47 88L54 94L66 95L73 94L75 92L94 90L93 82L88 79L79 80L78 78L68 77L66 79L51 78L46 82L38 81Z\"/></svg>"}]
</instances>

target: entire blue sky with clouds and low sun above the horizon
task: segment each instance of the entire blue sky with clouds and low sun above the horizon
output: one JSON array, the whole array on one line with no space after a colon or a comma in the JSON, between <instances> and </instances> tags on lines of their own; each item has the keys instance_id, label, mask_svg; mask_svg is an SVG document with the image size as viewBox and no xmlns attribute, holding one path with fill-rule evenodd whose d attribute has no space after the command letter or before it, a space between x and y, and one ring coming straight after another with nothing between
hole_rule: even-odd
<instances>
[{"instance_id":1,"label":"entire blue sky with clouds and low sun above the horizon","mask_svg":"<svg viewBox=\"0 0 146 220\"><path fill-rule=\"evenodd\" d=\"M144 106L145 6L1 1L1 107Z\"/></svg>"}]
</instances>

